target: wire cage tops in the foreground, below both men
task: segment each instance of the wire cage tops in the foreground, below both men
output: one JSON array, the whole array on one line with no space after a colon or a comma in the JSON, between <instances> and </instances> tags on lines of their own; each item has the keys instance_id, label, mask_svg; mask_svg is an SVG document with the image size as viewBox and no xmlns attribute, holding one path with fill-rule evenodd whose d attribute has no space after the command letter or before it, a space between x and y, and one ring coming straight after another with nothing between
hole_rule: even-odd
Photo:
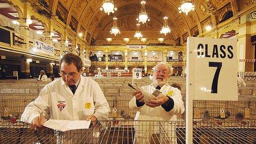
<instances>
[{"instance_id":1,"label":"wire cage tops in the foreground, below both men","mask_svg":"<svg viewBox=\"0 0 256 144\"><path fill-rule=\"evenodd\" d=\"M0 120L0 143L185 143L185 121L106 120L89 129L34 131ZM193 143L255 143L256 122L193 122Z\"/></svg>"}]
</instances>

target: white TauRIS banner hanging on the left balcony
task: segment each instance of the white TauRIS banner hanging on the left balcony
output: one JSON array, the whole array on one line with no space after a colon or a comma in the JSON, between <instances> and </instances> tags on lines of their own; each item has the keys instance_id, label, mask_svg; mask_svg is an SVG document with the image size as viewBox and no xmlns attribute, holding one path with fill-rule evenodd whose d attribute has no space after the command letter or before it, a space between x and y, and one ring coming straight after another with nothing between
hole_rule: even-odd
<instances>
[{"instance_id":1,"label":"white TauRIS banner hanging on the left balcony","mask_svg":"<svg viewBox=\"0 0 256 144\"><path fill-rule=\"evenodd\" d=\"M35 51L54 56L54 46L36 39L34 41Z\"/></svg>"}]
</instances>

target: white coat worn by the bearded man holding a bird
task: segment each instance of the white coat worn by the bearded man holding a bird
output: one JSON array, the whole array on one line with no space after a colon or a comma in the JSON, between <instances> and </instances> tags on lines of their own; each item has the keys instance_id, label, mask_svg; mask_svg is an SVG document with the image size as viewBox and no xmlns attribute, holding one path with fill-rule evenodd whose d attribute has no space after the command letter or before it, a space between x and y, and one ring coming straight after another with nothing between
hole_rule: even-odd
<instances>
[{"instance_id":1,"label":"white coat worn by the bearded man holding a bird","mask_svg":"<svg viewBox=\"0 0 256 144\"><path fill-rule=\"evenodd\" d=\"M146 92L153 93L156 90L156 87L151 83L149 86L142 87ZM138 116L138 120L147 120L144 122L138 121L136 122L136 143L149 143L152 141L150 137L155 134L161 134L162 131L165 131L168 134L168 140L172 141L172 143L176 143L175 137L175 124L167 123L164 126L159 126L160 123L157 121L175 121L177 120L176 115L183 114L185 108L182 100L182 94L178 88L174 88L169 86L169 84L165 84L161 89L164 95L168 95L174 101L174 107L170 111L166 111L162 108L162 106L157 106L156 108L151 108L146 104L137 107L136 98L132 98L129 102L129 107L132 110L140 111L140 115ZM143 132L142 132L143 131ZM162 137L164 138L164 137ZM167 141L159 140L160 143L170 143ZM161 142L162 141L162 142Z\"/></svg>"}]
</instances>

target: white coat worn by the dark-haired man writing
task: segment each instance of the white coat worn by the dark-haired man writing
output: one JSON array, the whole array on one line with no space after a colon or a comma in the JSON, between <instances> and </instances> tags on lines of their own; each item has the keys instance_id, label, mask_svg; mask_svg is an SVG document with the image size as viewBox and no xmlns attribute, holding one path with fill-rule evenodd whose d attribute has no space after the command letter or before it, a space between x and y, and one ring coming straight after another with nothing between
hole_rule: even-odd
<instances>
[{"instance_id":1,"label":"white coat worn by the dark-haired man writing","mask_svg":"<svg viewBox=\"0 0 256 144\"><path fill-rule=\"evenodd\" d=\"M26 106L22 114L22 121L29 122L44 115L50 109L52 119L59 120L86 120L94 115L98 120L108 119L109 105L99 84L93 79L80 76L76 93L65 82L58 78L47 84L40 92L39 97Z\"/></svg>"}]
</instances>

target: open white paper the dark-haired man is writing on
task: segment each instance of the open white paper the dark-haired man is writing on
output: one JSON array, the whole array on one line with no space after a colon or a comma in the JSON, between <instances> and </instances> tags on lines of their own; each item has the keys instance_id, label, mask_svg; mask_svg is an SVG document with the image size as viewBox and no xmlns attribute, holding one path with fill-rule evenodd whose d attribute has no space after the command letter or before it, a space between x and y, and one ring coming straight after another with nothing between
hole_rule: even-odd
<instances>
[{"instance_id":1,"label":"open white paper the dark-haired man is writing on","mask_svg":"<svg viewBox=\"0 0 256 144\"><path fill-rule=\"evenodd\" d=\"M86 120L47 120L44 123L45 127L58 131L68 131L77 129L88 129L90 121Z\"/></svg>"}]
</instances>

